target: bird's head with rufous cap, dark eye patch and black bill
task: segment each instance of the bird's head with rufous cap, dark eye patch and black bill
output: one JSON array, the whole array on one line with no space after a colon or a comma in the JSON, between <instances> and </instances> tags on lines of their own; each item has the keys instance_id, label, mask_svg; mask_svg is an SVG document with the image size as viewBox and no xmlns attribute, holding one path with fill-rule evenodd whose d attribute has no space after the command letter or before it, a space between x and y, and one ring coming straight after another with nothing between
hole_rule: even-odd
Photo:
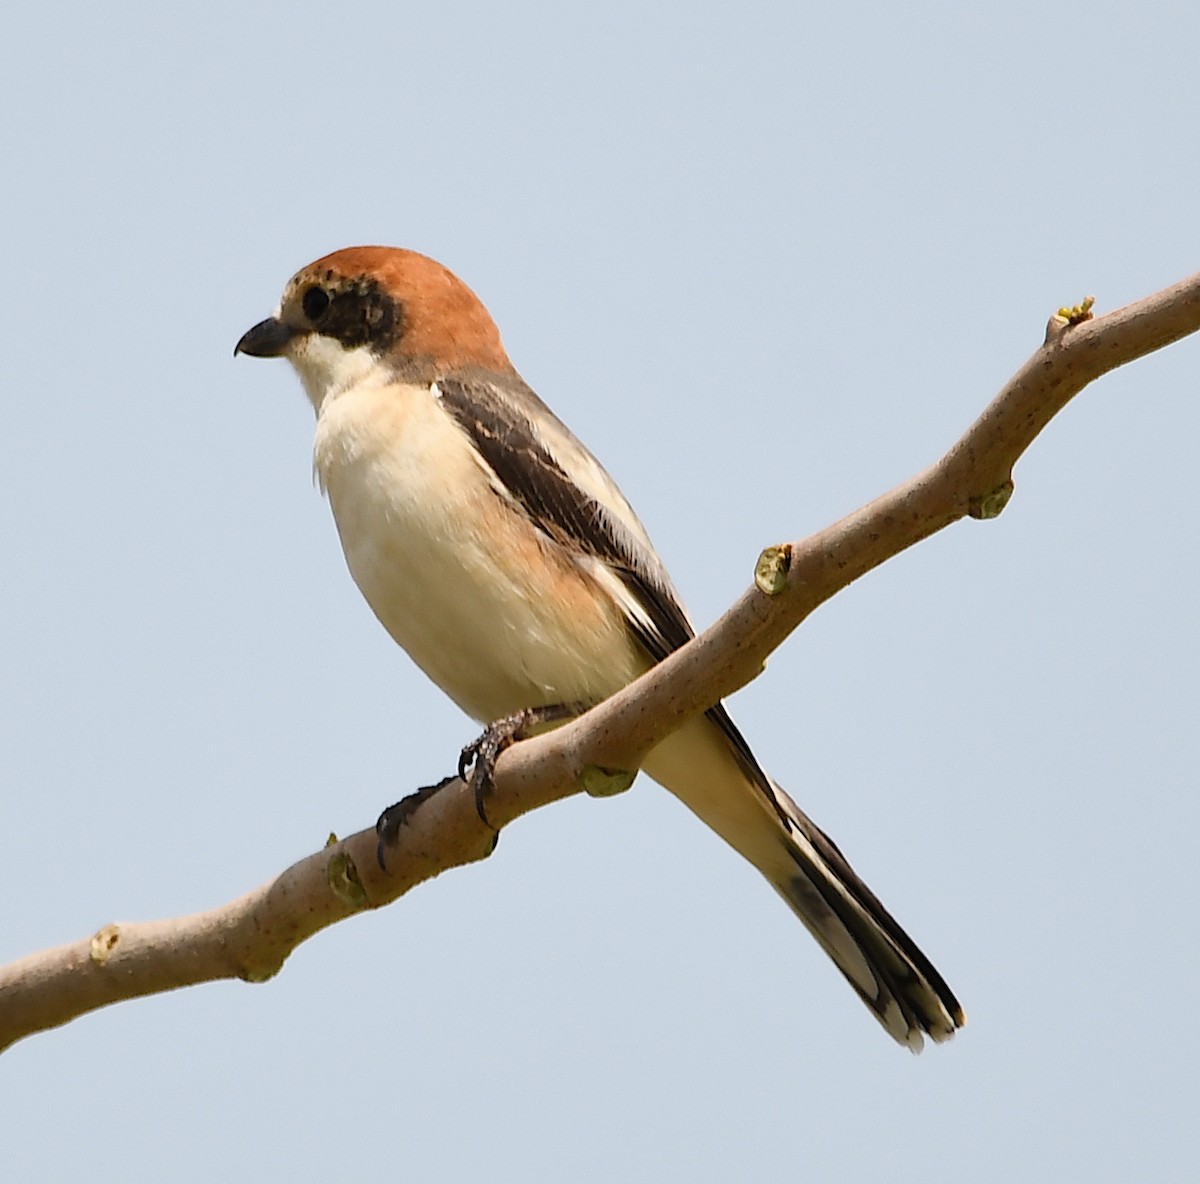
<instances>
[{"instance_id":1,"label":"bird's head with rufous cap, dark eye patch and black bill","mask_svg":"<svg viewBox=\"0 0 1200 1184\"><path fill-rule=\"evenodd\" d=\"M479 297L442 264L398 247L347 247L310 263L234 354L287 357L318 411L361 383L512 372Z\"/></svg>"}]
</instances>

